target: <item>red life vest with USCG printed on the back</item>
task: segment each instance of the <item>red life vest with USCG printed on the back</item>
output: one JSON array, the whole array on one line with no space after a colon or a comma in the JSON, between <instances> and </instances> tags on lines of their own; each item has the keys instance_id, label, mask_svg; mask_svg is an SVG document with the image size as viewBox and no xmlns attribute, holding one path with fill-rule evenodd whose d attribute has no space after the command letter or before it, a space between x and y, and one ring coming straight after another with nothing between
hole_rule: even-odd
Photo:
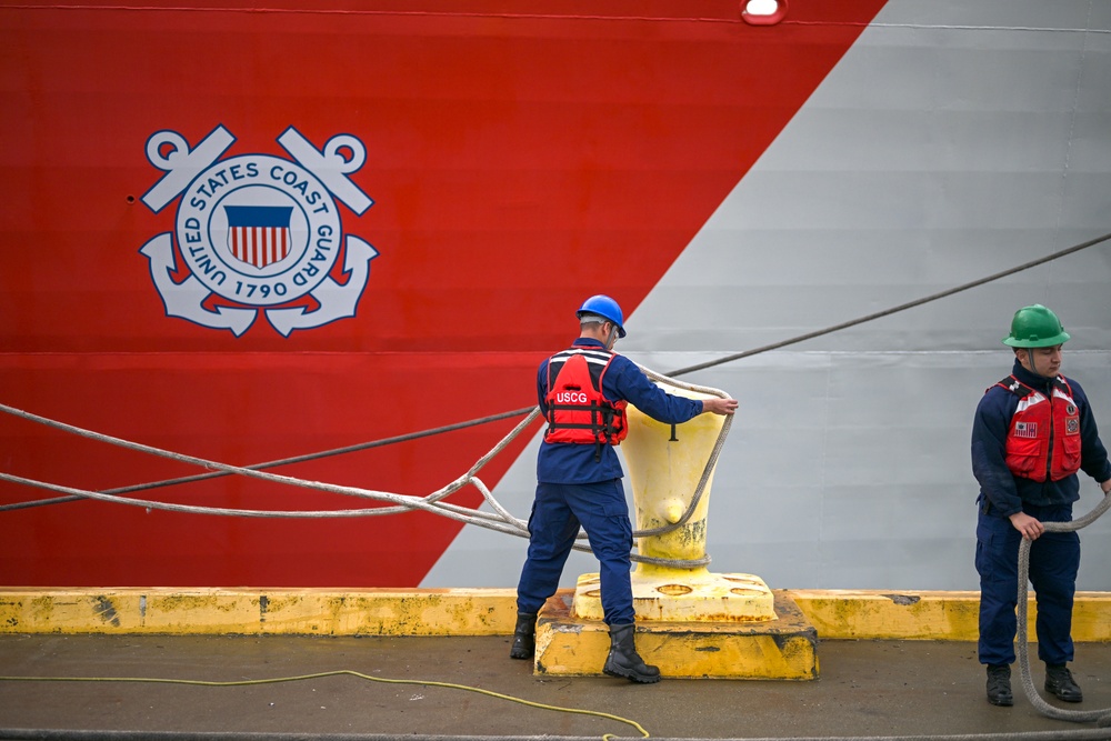
<instances>
[{"instance_id":1,"label":"red life vest with USCG printed on the back","mask_svg":"<svg viewBox=\"0 0 1111 741\"><path fill-rule=\"evenodd\" d=\"M548 360L546 442L620 444L629 433L625 401L602 395L602 379L614 353L601 348L571 348Z\"/></svg>"}]
</instances>

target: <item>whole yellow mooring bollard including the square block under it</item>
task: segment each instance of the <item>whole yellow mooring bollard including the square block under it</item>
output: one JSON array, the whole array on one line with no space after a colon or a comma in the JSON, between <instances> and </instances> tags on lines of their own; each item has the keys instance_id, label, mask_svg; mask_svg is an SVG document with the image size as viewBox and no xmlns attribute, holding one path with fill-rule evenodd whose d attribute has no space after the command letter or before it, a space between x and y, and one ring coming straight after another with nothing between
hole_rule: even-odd
<instances>
[{"instance_id":1,"label":"whole yellow mooring bollard including the square block under it","mask_svg":"<svg viewBox=\"0 0 1111 741\"><path fill-rule=\"evenodd\" d=\"M667 390L705 398L670 384ZM707 569L712 471L698 501L694 493L724 419L700 414L672 435L670 424L629 408L621 450L634 529L643 533L632 573L637 651L671 678L817 679L818 633L794 601L773 594L759 577ZM559 593L540 611L534 672L601 674L605 633L598 574L582 574L573 594Z\"/></svg>"}]
</instances>

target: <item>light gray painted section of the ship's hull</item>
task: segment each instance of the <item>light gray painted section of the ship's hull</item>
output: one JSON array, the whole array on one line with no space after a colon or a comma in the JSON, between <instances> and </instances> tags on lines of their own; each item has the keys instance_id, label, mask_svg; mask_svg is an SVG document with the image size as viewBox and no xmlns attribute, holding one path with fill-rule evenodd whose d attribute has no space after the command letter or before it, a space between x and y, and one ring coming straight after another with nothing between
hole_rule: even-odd
<instances>
[{"instance_id":1,"label":"light gray painted section of the ship's hull","mask_svg":"<svg viewBox=\"0 0 1111 741\"><path fill-rule=\"evenodd\" d=\"M743 132L739 132L743 136ZM1111 232L1111 3L889 3L629 317L660 372L869 316ZM1072 340L1111 430L1111 244L683 380L740 400L711 570L772 588L977 589L972 413L1013 311ZM1111 432L1104 433L1104 440ZM533 440L497 487L527 518ZM1077 514L1100 499L1083 482ZM1111 521L1078 587L1111 590ZM422 587L514 587L527 543L466 528ZM573 553L563 585L595 571Z\"/></svg>"}]
</instances>

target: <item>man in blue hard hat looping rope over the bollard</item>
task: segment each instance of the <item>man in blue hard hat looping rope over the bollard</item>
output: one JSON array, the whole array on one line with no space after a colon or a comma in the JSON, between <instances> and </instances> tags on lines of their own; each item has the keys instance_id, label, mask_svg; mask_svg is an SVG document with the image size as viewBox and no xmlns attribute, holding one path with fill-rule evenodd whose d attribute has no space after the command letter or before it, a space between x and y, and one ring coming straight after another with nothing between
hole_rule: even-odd
<instances>
[{"instance_id":1,"label":"man in blue hard hat looping rope over the bollard","mask_svg":"<svg viewBox=\"0 0 1111 741\"><path fill-rule=\"evenodd\" d=\"M575 317L579 339L540 363L537 374L537 398L548 428L537 457L529 553L517 588L510 657L533 658L537 613L556 593L581 525L598 558L602 617L610 630L602 671L634 682L657 682L659 669L644 663L633 641L632 524L613 447L625 437L629 403L661 422L679 424L703 412L732 414L737 401L669 394L634 362L613 352L625 330L621 307L610 297L587 299Z\"/></svg>"}]
</instances>

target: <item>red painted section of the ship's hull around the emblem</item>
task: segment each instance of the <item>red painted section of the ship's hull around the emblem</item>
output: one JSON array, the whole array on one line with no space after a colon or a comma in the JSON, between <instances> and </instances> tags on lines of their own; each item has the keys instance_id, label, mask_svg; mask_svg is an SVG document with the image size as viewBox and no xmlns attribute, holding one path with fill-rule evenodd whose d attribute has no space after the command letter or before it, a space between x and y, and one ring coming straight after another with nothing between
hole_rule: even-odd
<instances>
[{"instance_id":1,"label":"red painted section of the ship's hull around the emblem","mask_svg":"<svg viewBox=\"0 0 1111 741\"><path fill-rule=\"evenodd\" d=\"M0 401L246 465L534 403L533 369L578 303L604 291L631 313L883 2L798 2L764 28L732 2L202 4L0 8ZM198 148L218 127L233 143L214 163L288 161L290 128L318 151L339 134L364 146L348 180L373 206L324 199L349 238L326 246L330 280L364 281L353 317L280 331L276 302L194 302L252 317L237 334L169 310L140 249L173 234L174 286L200 272L179 223L192 191L144 202L164 174L147 142L170 131ZM300 170L269 187L282 172ZM369 274L344 271L351 237L377 253ZM286 308L322 303L298 301ZM516 421L279 472L426 494ZM489 485L523 444L487 467ZM4 472L89 490L197 472L7 414L0 450ZM0 484L0 504L53 495ZM138 495L364 505L238 477ZM460 524L78 502L0 512L0 528L12 585L411 587Z\"/></svg>"}]
</instances>

